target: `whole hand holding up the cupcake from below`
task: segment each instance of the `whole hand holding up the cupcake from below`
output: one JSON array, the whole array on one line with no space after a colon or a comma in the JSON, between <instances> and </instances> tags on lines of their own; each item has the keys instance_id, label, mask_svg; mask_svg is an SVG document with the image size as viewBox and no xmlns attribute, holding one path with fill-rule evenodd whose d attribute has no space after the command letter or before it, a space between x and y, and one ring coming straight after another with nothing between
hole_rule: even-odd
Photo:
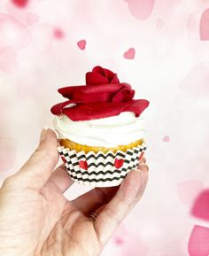
<instances>
[{"instance_id":1,"label":"whole hand holding up the cupcake from below","mask_svg":"<svg viewBox=\"0 0 209 256\"><path fill-rule=\"evenodd\" d=\"M73 181L58 163L57 138L44 130L35 153L0 190L0 255L98 255L142 197L148 167L128 173L120 187L97 188L68 201ZM97 213L97 219L89 217Z\"/></svg>"}]
</instances>

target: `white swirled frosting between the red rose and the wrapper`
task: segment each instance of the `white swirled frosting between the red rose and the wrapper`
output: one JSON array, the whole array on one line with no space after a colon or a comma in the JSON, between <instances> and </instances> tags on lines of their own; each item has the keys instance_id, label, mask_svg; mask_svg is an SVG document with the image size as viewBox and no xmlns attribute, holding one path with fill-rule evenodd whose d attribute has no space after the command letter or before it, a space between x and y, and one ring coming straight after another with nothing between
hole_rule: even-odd
<instances>
[{"instance_id":1,"label":"white swirled frosting between the red rose and the wrapper","mask_svg":"<svg viewBox=\"0 0 209 256\"><path fill-rule=\"evenodd\" d=\"M53 126L60 138L89 146L116 147L143 138L144 120L133 112L97 120L70 120L66 115L56 116Z\"/></svg>"}]
</instances>

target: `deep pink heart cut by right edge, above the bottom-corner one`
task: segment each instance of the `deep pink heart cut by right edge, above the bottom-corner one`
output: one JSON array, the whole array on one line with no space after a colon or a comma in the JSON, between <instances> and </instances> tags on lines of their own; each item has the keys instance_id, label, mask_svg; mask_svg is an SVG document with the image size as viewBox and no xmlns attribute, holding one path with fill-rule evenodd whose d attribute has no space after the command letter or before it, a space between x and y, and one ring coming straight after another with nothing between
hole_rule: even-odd
<instances>
[{"instance_id":1,"label":"deep pink heart cut by right edge, above the bottom-corner one","mask_svg":"<svg viewBox=\"0 0 209 256\"><path fill-rule=\"evenodd\" d=\"M204 190L197 197L191 214L196 218L209 221L209 190Z\"/></svg>"}]
</instances>

